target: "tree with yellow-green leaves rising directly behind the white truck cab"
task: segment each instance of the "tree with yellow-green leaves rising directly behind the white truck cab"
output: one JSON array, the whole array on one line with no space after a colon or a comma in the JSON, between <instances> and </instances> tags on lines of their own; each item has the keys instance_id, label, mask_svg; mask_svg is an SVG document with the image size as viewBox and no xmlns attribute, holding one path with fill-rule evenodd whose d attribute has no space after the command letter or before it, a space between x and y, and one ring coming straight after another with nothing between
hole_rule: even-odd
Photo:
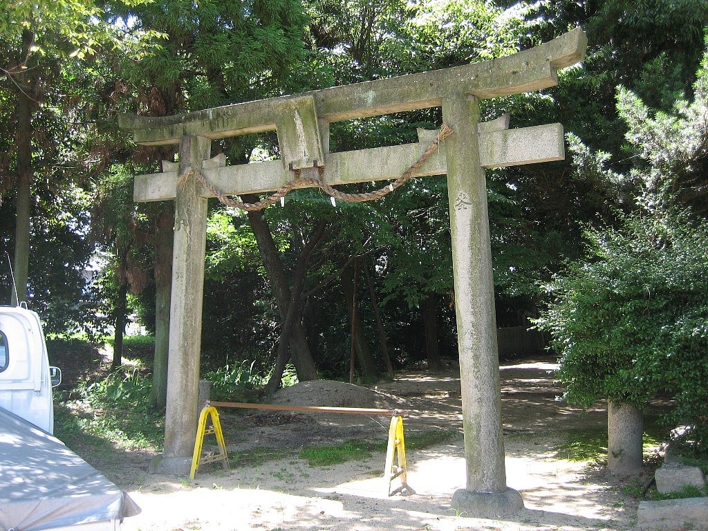
<instances>
[{"instance_id":1,"label":"tree with yellow-green leaves rising directly behind the white truck cab","mask_svg":"<svg viewBox=\"0 0 708 531\"><path fill-rule=\"evenodd\" d=\"M135 4L142 0L129 1ZM27 298L32 186L37 168L47 156L45 148L52 144L42 135L38 116L51 104L62 109L67 103L59 91L65 67L89 57L99 44L110 42L123 52L140 45L139 35L122 39L122 30L101 23L100 14L101 8L91 1L42 0L38 5L8 4L0 17L0 93L4 96L2 103L11 107L8 114L14 131L13 159L4 161L3 168L7 172L4 184L9 181L16 190L13 302ZM68 132L62 134L60 138L65 139ZM13 173L12 178L8 178L9 173Z\"/></svg>"}]
</instances>

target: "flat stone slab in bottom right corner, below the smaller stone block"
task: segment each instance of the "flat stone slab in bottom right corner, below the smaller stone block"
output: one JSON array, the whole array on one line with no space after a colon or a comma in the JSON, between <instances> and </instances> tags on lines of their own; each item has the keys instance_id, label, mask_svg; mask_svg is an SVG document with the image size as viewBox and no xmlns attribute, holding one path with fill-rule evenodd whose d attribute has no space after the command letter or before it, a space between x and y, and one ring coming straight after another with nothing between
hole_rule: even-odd
<instances>
[{"instance_id":1,"label":"flat stone slab in bottom right corner, below the smaller stone block","mask_svg":"<svg viewBox=\"0 0 708 531\"><path fill-rule=\"evenodd\" d=\"M636 515L645 530L708 531L708 497L641 501Z\"/></svg>"}]
</instances>

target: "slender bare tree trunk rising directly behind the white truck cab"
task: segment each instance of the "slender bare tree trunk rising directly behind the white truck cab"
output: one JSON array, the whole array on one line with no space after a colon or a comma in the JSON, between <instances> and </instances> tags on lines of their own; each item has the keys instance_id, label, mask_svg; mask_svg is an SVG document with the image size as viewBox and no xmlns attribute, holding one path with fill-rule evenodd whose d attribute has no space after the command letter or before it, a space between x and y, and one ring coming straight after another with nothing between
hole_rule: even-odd
<instances>
[{"instance_id":1,"label":"slender bare tree trunk rising directly behind the white truck cab","mask_svg":"<svg viewBox=\"0 0 708 531\"><path fill-rule=\"evenodd\" d=\"M31 34L23 32L23 42L31 42ZM13 273L15 289L12 290L12 304L27 300L27 279L30 266L30 210L32 169L32 110L34 102L30 94L21 89L17 92L16 118L17 130L17 195L15 226L15 260Z\"/></svg>"}]
</instances>

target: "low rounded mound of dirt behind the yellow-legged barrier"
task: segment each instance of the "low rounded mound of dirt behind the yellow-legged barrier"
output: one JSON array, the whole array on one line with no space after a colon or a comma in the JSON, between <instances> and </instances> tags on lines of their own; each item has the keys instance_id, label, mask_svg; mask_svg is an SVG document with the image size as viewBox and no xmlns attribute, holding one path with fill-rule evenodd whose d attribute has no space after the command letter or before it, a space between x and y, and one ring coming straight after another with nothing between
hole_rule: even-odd
<instances>
[{"instance_id":1,"label":"low rounded mound of dirt behind the yellow-legged barrier","mask_svg":"<svg viewBox=\"0 0 708 531\"><path fill-rule=\"evenodd\" d=\"M329 379L317 379L312 382L299 382L273 394L271 404L292 406L330 406L343 408L381 408L396 407L394 396L379 393L345 382Z\"/></svg>"}]
</instances>

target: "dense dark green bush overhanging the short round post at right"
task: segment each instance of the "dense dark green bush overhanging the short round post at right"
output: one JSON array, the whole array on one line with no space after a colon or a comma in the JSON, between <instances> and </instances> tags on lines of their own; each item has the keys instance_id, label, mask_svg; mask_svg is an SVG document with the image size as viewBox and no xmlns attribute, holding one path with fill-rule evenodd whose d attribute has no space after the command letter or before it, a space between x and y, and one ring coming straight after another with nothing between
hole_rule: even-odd
<instances>
[{"instance_id":1,"label":"dense dark green bush overhanging the short round post at right","mask_svg":"<svg viewBox=\"0 0 708 531\"><path fill-rule=\"evenodd\" d=\"M588 259L547 285L538 319L561 357L566 399L645 406L674 400L668 420L708 444L708 222L675 212L623 217L587 234Z\"/></svg>"}]
</instances>

